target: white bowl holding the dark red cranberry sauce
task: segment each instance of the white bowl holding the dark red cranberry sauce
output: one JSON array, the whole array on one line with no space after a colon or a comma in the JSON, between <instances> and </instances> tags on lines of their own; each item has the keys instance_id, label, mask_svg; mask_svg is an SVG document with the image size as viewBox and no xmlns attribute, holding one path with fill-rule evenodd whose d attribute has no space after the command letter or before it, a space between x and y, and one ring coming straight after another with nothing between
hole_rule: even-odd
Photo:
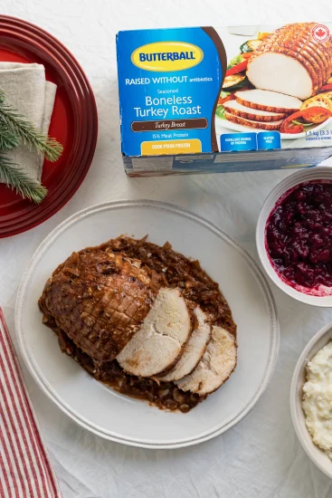
<instances>
[{"instance_id":1,"label":"white bowl holding the dark red cranberry sauce","mask_svg":"<svg viewBox=\"0 0 332 498\"><path fill-rule=\"evenodd\" d=\"M302 169L293 175L282 180L277 187L274 187L270 195L266 198L261 213L258 217L256 226L256 245L257 251L261 259L261 264L270 279L275 283L283 292L289 294L290 297L297 299L306 304L314 306L332 307L332 289L325 288L327 295L312 295L305 292L300 292L291 287L288 283L283 282L278 273L270 263L270 257L266 250L265 244L265 227L274 206L277 204L281 196L283 196L289 189L297 185L313 180L331 180L332 181L332 167L320 166L310 169Z\"/></svg>"}]
</instances>

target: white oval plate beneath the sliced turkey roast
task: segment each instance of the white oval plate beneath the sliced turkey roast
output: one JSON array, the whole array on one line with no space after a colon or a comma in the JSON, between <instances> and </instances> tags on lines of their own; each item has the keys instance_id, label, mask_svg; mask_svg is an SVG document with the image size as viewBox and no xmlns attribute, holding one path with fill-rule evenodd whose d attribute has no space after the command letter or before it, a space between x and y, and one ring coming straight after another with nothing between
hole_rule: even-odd
<instances>
[{"instance_id":1,"label":"white oval plate beneath the sliced turkey roast","mask_svg":"<svg viewBox=\"0 0 332 498\"><path fill-rule=\"evenodd\" d=\"M238 324L238 367L222 388L188 414L167 413L122 396L91 378L62 354L42 324L37 301L55 267L72 251L122 233L197 258L213 275ZM81 426L126 445L175 448L195 445L239 422L267 387L277 359L279 326L261 271L219 228L177 206L119 201L90 207L59 225L33 255L20 286L15 325L24 360L44 392Z\"/></svg>"}]
</instances>

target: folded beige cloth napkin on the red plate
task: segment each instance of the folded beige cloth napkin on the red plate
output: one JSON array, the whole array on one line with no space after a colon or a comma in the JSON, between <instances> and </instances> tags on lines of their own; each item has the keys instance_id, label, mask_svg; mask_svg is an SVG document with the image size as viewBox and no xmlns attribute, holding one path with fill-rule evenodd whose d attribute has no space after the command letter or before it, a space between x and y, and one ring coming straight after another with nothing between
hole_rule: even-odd
<instances>
[{"instance_id":1,"label":"folded beige cloth napkin on the red plate","mask_svg":"<svg viewBox=\"0 0 332 498\"><path fill-rule=\"evenodd\" d=\"M56 85L46 81L42 64L0 62L0 89L4 91L8 104L44 134L48 133ZM8 151L7 154L29 177L41 180L42 156L24 145Z\"/></svg>"}]
</instances>

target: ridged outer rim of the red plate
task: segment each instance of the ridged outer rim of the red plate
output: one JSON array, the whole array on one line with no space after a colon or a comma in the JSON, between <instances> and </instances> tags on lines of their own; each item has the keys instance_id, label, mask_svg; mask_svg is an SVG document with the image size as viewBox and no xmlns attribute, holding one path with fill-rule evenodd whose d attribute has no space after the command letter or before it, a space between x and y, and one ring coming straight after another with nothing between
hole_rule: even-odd
<instances>
[{"instance_id":1,"label":"ridged outer rim of the red plate","mask_svg":"<svg viewBox=\"0 0 332 498\"><path fill-rule=\"evenodd\" d=\"M52 202L50 205L47 205L46 212L40 206L33 206L34 210L25 209L23 213L12 213L10 215L10 222L8 222L8 219L4 219L2 222L3 229L0 230L0 238L5 238L22 234L31 230L34 226L41 225L51 218L52 215L60 211L71 200L71 197L74 196L79 187L81 187L81 183L90 169L97 146L98 110L90 81L83 71L80 62L55 36L36 24L4 14L0 14L0 32L4 32L4 36L12 36L14 40L21 41L23 38L28 38L31 47L42 47L41 50L43 53L52 53L53 62L56 62L58 66L62 66L64 72L68 71L67 66L69 66L71 68L69 79L71 84L75 83L74 90L75 92L79 91L81 97L80 112L83 115L88 113L90 120L89 128L85 132L88 142L85 142L84 148L87 147L87 150L80 156L80 163L83 165L83 168L79 168L78 171L76 168L72 171L71 176L68 177L70 181L72 176L75 178L74 182L71 181L71 188L69 190L66 189L62 196L52 196ZM60 200L57 200L59 197Z\"/></svg>"}]
</instances>

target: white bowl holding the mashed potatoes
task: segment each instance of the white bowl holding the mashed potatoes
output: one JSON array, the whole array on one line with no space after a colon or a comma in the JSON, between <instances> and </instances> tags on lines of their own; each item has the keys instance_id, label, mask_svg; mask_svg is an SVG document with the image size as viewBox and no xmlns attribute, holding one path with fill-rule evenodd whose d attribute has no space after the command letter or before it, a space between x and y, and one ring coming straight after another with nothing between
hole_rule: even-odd
<instances>
[{"instance_id":1,"label":"white bowl holding the mashed potatoes","mask_svg":"<svg viewBox=\"0 0 332 498\"><path fill-rule=\"evenodd\" d=\"M318 350L321 350L326 346L327 342L331 339L332 322L327 323L323 329L319 330L302 351L295 367L290 386L290 413L295 432L299 437L299 442L310 460L330 479L332 479L332 461L323 450L313 443L311 436L308 433L305 415L302 409L302 388L306 382L306 367L308 361L315 356Z\"/></svg>"}]
</instances>

